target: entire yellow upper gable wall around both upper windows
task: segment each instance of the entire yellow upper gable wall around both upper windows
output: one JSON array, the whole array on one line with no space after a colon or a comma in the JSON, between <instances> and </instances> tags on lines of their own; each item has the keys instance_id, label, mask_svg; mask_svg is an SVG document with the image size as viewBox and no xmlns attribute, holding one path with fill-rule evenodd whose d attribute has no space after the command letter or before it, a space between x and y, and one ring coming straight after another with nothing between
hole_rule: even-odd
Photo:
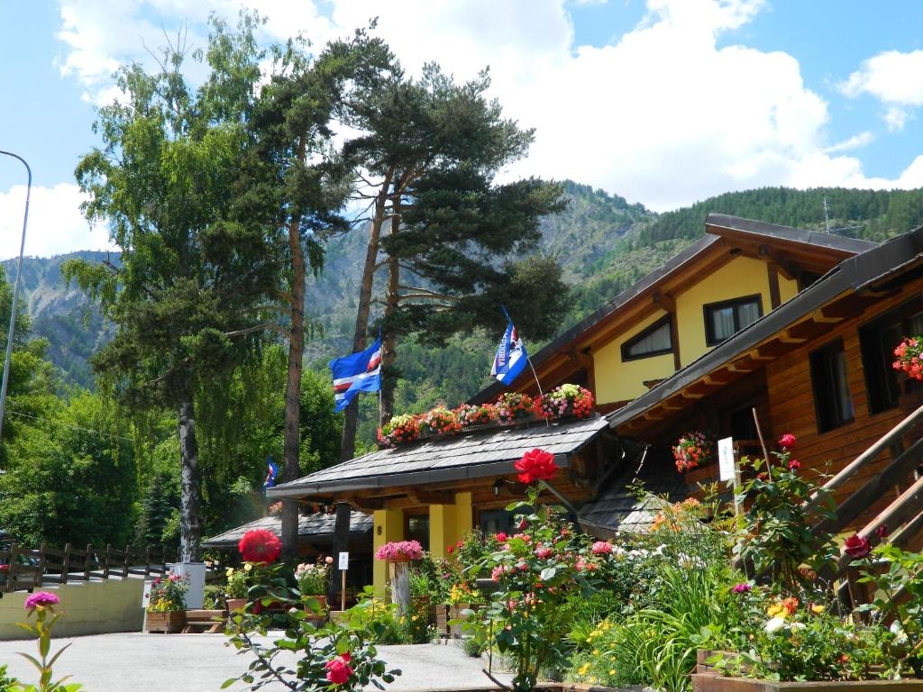
<instances>
[{"instance_id":1,"label":"entire yellow upper gable wall around both upper windows","mask_svg":"<svg viewBox=\"0 0 923 692\"><path fill-rule=\"evenodd\" d=\"M791 300L798 292L797 281L779 275L779 299ZM680 363L687 365L709 349L705 343L705 316L702 306L759 293L763 315L772 307L769 296L768 265L750 257L735 257L676 297ZM602 404L633 400L647 388L645 381L662 379L674 373L673 354L622 361L622 344L665 316L660 310L593 353L596 401Z\"/></svg>"}]
</instances>

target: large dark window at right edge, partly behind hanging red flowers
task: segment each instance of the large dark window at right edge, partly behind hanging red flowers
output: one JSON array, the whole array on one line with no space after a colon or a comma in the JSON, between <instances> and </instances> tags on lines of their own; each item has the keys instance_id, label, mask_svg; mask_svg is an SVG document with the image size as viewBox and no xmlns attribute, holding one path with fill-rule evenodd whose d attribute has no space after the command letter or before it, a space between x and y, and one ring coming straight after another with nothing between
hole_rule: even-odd
<instances>
[{"instance_id":1,"label":"large dark window at right edge, partly behind hanging red flowers","mask_svg":"<svg viewBox=\"0 0 923 692\"><path fill-rule=\"evenodd\" d=\"M881 413L897 406L901 385L891 364L894 349L905 337L923 333L923 299L915 298L859 328L862 369L865 371L869 413ZM919 388L916 381L904 383L905 392Z\"/></svg>"}]
</instances>

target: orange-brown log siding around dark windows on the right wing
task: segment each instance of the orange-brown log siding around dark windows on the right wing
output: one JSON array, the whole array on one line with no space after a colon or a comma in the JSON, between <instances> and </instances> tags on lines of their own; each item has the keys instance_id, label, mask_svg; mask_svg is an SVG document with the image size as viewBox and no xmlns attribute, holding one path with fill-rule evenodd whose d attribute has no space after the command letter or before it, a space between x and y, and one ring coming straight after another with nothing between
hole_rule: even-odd
<instances>
[{"instance_id":1,"label":"orange-brown log siding around dark windows on the right wing","mask_svg":"<svg viewBox=\"0 0 923 692\"><path fill-rule=\"evenodd\" d=\"M876 316L893 309L914 294L919 294L923 280L908 283L904 290L892 297L882 299L866 308L859 315L830 324L820 337L809 340L796 351L789 352L776 361L766 364L766 383L769 393L769 414L773 441L779 435L791 433L798 440L794 457L802 464L802 471L820 471L833 474L856 459L863 451L874 445L907 412L901 407L869 415L869 399L866 391L865 370L859 345L858 329ZM847 381L853 405L853 421L833 430L821 433L818 429L813 385L810 376L809 354L833 340L842 339L846 358ZM905 440L905 447L913 438ZM893 460L893 449L887 449L877 459L869 462L841 487L834 495L837 503L862 487ZM906 487L909 479L902 481ZM898 495L895 486L884 493L871 507L862 512L846 528L854 529L868 523Z\"/></svg>"}]
</instances>

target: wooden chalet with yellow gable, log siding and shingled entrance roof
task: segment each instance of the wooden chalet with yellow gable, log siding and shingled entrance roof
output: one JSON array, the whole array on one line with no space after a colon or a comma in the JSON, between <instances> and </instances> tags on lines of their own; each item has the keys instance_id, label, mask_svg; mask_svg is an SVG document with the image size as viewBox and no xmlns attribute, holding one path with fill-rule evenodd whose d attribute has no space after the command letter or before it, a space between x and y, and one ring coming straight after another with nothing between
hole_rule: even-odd
<instances>
[{"instance_id":1,"label":"wooden chalet with yellow gable, log siding and shingled entrance roof","mask_svg":"<svg viewBox=\"0 0 923 692\"><path fill-rule=\"evenodd\" d=\"M533 357L545 388L590 388L594 417L421 439L268 495L349 503L373 513L375 548L416 539L439 556L475 527L509 528L504 507L522 490L513 463L533 447L554 453L563 469L552 483L557 498L547 500L563 499L584 530L601 536L649 523L651 507L629 495L629 483L678 498L713 475L676 471L670 447L678 435L697 428L752 440L753 407L770 439L798 435L806 468L843 467L918 395L895 379L888 358L900 334L917 323L923 330L923 270L915 264L923 232L879 246L717 214L706 231ZM531 374L513 383L533 388ZM472 402L501 391L486 388ZM893 441L878 466L851 474L841 492L875 477L907 442ZM374 566L377 588L385 567Z\"/></svg>"}]
</instances>

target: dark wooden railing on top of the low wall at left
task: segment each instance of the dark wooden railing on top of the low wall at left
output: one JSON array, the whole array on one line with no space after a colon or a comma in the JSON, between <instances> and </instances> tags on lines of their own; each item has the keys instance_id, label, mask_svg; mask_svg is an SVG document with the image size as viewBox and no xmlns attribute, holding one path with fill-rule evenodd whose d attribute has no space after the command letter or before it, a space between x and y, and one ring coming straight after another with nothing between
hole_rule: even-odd
<instances>
[{"instance_id":1,"label":"dark wooden railing on top of the low wall at left","mask_svg":"<svg viewBox=\"0 0 923 692\"><path fill-rule=\"evenodd\" d=\"M42 543L34 549L7 543L6 547L0 547L0 596L12 591L33 591L47 584L164 575L167 562L175 559L175 552L163 546L75 548L67 543L60 549Z\"/></svg>"}]
</instances>

